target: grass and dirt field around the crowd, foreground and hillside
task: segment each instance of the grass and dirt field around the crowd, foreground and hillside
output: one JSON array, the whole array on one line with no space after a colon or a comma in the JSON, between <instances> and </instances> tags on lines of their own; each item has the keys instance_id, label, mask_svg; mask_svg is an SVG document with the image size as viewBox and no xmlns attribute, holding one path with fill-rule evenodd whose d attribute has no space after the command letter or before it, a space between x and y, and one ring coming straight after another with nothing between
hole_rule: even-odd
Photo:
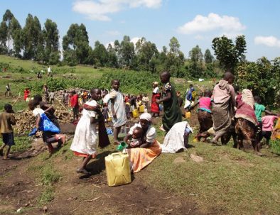
<instances>
[{"instance_id":1,"label":"grass and dirt field around the crowd, foreground and hillside","mask_svg":"<svg viewBox=\"0 0 280 215\"><path fill-rule=\"evenodd\" d=\"M158 81L158 75L148 72L83 66L52 67L53 79L43 75L38 80L36 72L46 70L45 65L2 55L1 63L9 63L8 72L0 75L1 110L5 103L13 104L24 87L31 87L33 94L41 92L44 82L53 83L54 89L90 84L89 89L108 87L109 79L117 77L124 93L149 94L151 82ZM16 69L20 67L21 71ZM13 97L4 97L8 82ZM185 79L172 82L182 94L189 84ZM193 84L196 88L211 87L212 80ZM26 109L23 99L18 99L14 109ZM195 111L188 121L197 132ZM159 128L161 118L153 123ZM194 143L191 136L187 151L161 154L136 173L131 184L108 187L104 157L116 146L99 150L97 158L90 162L90 177L77 175L75 169L81 160L69 150L75 127L63 128L68 144L51 157L41 139L16 136L12 159L0 160L0 214L279 214L280 152L276 145L274 153L263 148L264 156L259 157L249 145L237 150L232 143ZM162 143L164 133L157 131L157 139ZM203 162L193 161L191 155L202 157Z\"/></svg>"}]
</instances>

